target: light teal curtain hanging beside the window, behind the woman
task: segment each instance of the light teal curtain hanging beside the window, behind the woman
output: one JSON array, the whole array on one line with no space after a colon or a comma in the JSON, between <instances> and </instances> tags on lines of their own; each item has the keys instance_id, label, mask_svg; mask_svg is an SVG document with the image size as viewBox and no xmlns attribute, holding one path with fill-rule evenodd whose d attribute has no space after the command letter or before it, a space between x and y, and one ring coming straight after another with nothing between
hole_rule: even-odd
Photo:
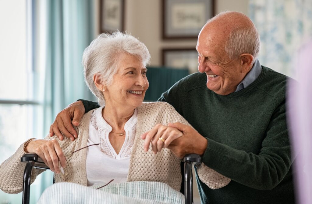
<instances>
[{"instance_id":1,"label":"light teal curtain hanging beside the window, behind the woman","mask_svg":"<svg viewBox=\"0 0 312 204\"><path fill-rule=\"evenodd\" d=\"M68 104L80 98L96 100L84 82L81 63L84 49L96 36L94 5L95 0L46 0L43 136ZM52 172L44 173L40 192L32 196L37 200L52 181Z\"/></svg>"}]
</instances>

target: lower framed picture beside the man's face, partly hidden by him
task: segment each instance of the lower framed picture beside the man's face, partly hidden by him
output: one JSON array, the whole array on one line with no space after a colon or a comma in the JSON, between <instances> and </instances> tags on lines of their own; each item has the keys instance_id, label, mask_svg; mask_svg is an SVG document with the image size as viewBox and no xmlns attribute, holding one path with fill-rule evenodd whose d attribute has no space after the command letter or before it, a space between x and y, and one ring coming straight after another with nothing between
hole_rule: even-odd
<instances>
[{"instance_id":1,"label":"lower framed picture beside the man's face, partly hidden by him","mask_svg":"<svg viewBox=\"0 0 312 204\"><path fill-rule=\"evenodd\" d=\"M195 48L162 49L163 66L188 68L189 73L198 72L198 53Z\"/></svg>"}]
</instances>

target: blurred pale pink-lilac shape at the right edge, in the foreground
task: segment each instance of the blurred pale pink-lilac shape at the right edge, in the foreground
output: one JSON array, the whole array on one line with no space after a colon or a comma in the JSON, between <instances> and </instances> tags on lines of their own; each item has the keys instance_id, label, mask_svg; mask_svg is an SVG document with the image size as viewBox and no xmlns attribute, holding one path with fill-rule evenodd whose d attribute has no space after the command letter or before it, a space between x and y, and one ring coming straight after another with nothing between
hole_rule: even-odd
<instances>
[{"instance_id":1,"label":"blurred pale pink-lilac shape at the right edge, in the foreground","mask_svg":"<svg viewBox=\"0 0 312 204\"><path fill-rule=\"evenodd\" d=\"M312 40L298 53L297 82L288 83L288 122L293 147L297 202L312 203Z\"/></svg>"}]
</instances>

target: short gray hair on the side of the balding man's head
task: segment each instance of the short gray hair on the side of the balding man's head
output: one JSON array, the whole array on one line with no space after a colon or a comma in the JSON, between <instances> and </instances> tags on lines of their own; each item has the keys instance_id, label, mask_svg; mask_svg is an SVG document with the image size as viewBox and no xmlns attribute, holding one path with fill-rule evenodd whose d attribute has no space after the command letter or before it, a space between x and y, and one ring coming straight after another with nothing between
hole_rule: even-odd
<instances>
[{"instance_id":1,"label":"short gray hair on the side of the balding man's head","mask_svg":"<svg viewBox=\"0 0 312 204\"><path fill-rule=\"evenodd\" d=\"M213 21L227 13L230 12L221 12L208 21ZM231 16L228 16L228 18L230 19ZM231 59L238 58L242 53L248 53L254 57L252 63L256 61L261 45L260 35L252 21L251 24L252 25L237 25L231 30L225 44L225 52Z\"/></svg>"}]
</instances>

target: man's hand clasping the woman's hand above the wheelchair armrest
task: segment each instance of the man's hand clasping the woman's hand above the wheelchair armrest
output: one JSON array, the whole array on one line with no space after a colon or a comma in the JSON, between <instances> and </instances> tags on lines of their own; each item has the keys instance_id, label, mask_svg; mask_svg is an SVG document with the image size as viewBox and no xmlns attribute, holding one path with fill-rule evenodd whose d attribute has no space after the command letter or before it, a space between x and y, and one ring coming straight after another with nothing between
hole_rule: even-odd
<instances>
[{"instance_id":1,"label":"man's hand clasping the woman's hand above the wheelchair armrest","mask_svg":"<svg viewBox=\"0 0 312 204\"><path fill-rule=\"evenodd\" d=\"M208 141L196 130L182 123L169 123L168 125L183 133L182 137L173 140L168 146L174 155L182 159L187 154L203 155L205 153Z\"/></svg>"}]
</instances>

